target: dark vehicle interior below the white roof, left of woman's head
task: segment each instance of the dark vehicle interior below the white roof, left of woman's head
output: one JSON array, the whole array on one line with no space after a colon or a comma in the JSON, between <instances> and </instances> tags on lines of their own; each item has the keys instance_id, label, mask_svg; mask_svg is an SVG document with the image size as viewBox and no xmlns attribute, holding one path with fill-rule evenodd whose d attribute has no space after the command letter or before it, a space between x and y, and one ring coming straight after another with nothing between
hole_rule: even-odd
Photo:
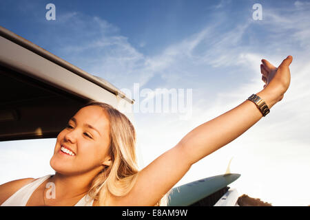
<instances>
[{"instance_id":1,"label":"dark vehicle interior below the white roof, left of woman's head","mask_svg":"<svg viewBox=\"0 0 310 220\"><path fill-rule=\"evenodd\" d=\"M0 141L56 137L88 100L0 65Z\"/></svg>"}]
</instances>

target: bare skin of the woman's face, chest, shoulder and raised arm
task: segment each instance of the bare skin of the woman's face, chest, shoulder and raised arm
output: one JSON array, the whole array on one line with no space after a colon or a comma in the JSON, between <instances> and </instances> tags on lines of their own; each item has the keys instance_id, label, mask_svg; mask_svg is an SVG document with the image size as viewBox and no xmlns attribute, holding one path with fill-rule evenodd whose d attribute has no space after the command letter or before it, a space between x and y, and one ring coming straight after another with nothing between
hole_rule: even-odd
<instances>
[{"instance_id":1,"label":"bare skin of the woman's face, chest, shoulder and raised arm","mask_svg":"<svg viewBox=\"0 0 310 220\"><path fill-rule=\"evenodd\" d=\"M265 100L269 109L282 100L289 88L291 62L292 57L288 56L277 68L262 60L260 71L265 85L257 95ZM51 159L51 166L56 170L56 175L47 181L53 181L56 185L58 199L45 198L44 203L42 195L46 189L43 183L32 194L28 206L73 206L85 195L91 179L103 166L109 166L109 140L105 131L108 131L110 124L101 109L86 108L80 109L74 115L75 122L70 121L72 129L64 129L57 137L54 156ZM262 113L256 104L245 100L234 109L201 124L187 133L176 146L143 168L138 173L134 188L123 197L112 197L111 206L154 206L187 173L192 164L235 140L260 118ZM85 122L100 132L85 129ZM85 132L90 133L93 139L88 139ZM76 155L72 158L61 155L61 144L70 147ZM33 179L19 179L1 185L0 203L30 181ZM96 205L98 203L94 201L94 206Z\"/></svg>"}]
</instances>

